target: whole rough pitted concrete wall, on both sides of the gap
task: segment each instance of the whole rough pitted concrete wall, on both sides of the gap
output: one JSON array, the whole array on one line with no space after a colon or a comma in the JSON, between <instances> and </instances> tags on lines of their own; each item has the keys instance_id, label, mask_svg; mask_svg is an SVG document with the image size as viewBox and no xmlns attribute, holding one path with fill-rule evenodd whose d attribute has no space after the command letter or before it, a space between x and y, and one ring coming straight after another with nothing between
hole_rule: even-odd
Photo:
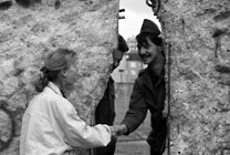
<instances>
[{"instance_id":1,"label":"whole rough pitted concrete wall, on both sides of the gap","mask_svg":"<svg viewBox=\"0 0 230 155\"><path fill-rule=\"evenodd\" d=\"M160 2L171 155L229 155L230 1ZM69 100L91 124L117 44L117 12L118 0L0 0L1 155L18 155L21 116L50 50L76 51L80 80Z\"/></svg>"}]
</instances>

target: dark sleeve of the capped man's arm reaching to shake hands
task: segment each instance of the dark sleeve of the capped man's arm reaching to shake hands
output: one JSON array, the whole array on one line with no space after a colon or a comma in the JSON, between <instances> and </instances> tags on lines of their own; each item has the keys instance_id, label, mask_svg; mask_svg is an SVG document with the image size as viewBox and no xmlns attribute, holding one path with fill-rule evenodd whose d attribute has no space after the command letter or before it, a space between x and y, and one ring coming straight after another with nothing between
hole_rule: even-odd
<instances>
[{"instance_id":1,"label":"dark sleeve of the capped man's arm reaching to shake hands","mask_svg":"<svg viewBox=\"0 0 230 155\"><path fill-rule=\"evenodd\" d=\"M125 124L128 128L126 135L134 132L144 122L147 115L147 110L148 107L145 102L140 84L136 80L130 95L129 108L122 122L122 124Z\"/></svg>"}]
</instances>

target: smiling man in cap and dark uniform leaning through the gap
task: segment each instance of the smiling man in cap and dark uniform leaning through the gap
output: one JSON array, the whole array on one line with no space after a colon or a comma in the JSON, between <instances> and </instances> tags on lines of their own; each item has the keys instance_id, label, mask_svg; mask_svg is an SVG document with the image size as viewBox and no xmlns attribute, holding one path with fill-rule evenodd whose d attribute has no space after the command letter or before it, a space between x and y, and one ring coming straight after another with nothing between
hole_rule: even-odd
<instances>
[{"instance_id":1,"label":"smiling man in cap and dark uniform leaning through the gap","mask_svg":"<svg viewBox=\"0 0 230 155\"><path fill-rule=\"evenodd\" d=\"M161 155L165 151L167 125L163 116L165 102L165 54L159 28L145 19L136 37L138 54L147 68L139 72L130 95L129 110L118 127L117 134L128 135L145 120L150 111L151 132L147 138L150 155Z\"/></svg>"}]
</instances>

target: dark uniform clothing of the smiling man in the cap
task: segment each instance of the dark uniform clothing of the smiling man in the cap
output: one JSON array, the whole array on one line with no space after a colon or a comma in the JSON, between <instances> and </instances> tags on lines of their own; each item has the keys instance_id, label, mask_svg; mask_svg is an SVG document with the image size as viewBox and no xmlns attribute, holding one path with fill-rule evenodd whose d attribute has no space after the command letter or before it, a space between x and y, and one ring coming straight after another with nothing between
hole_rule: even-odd
<instances>
[{"instance_id":1,"label":"dark uniform clothing of the smiling man in the cap","mask_svg":"<svg viewBox=\"0 0 230 155\"><path fill-rule=\"evenodd\" d=\"M166 97L165 71L157 76L149 68L140 71L136 79L130 95L129 110L122 124L128 127L127 135L134 132L145 120L147 111L150 111L151 132L147 138L151 147L151 154L163 154L167 134L166 118L163 110Z\"/></svg>"}]
</instances>

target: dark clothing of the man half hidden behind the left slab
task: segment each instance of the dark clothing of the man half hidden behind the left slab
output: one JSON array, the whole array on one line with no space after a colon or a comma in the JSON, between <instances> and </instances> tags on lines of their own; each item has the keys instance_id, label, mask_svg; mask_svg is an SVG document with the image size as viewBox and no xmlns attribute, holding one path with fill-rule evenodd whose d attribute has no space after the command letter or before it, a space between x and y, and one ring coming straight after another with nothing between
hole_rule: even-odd
<instances>
[{"instance_id":1,"label":"dark clothing of the man half hidden behind the left slab","mask_svg":"<svg viewBox=\"0 0 230 155\"><path fill-rule=\"evenodd\" d=\"M115 102L114 80L109 78L104 96L96 106L96 112L95 112L96 124L113 125L115 118L114 102ZM111 143L106 147L96 148L96 155L114 155L115 145L116 145L116 138L112 137Z\"/></svg>"}]
</instances>

